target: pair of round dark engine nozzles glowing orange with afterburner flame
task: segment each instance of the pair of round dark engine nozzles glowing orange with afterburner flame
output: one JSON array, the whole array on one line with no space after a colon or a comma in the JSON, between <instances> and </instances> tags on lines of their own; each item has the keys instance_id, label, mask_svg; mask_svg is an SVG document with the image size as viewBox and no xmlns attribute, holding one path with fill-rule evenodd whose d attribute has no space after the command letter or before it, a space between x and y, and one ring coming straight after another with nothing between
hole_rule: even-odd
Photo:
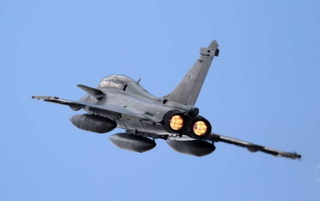
<instances>
[{"instance_id":1,"label":"pair of round dark engine nozzles glowing orange with afterburner flame","mask_svg":"<svg viewBox=\"0 0 320 201\"><path fill-rule=\"evenodd\" d=\"M175 110L165 115L164 127L170 133L183 133L194 139L204 139L211 133L211 124L207 119L187 116Z\"/></svg>"}]
</instances>

